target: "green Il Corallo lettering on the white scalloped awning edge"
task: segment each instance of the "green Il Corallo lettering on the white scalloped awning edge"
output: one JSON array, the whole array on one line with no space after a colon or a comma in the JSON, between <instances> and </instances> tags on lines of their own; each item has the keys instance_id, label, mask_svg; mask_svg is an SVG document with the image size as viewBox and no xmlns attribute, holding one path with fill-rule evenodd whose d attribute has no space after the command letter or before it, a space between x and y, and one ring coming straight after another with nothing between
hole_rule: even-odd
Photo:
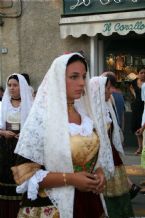
<instances>
[{"instance_id":1,"label":"green Il Corallo lettering on the white scalloped awning edge","mask_svg":"<svg viewBox=\"0 0 145 218\"><path fill-rule=\"evenodd\" d=\"M142 20L127 23L107 22L104 24L102 34L107 35L110 32L118 32L119 34L124 34L124 32L128 31L134 31L138 33L145 32L145 22Z\"/></svg>"}]
</instances>

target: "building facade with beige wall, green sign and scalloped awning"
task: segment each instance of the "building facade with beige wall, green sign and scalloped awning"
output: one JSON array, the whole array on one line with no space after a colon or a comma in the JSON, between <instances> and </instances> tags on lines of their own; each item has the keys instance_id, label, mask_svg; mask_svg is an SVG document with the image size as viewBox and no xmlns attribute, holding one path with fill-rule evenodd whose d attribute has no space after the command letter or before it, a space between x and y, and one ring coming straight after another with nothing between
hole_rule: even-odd
<instances>
[{"instance_id":1,"label":"building facade with beige wall, green sign and scalloped awning","mask_svg":"<svg viewBox=\"0 0 145 218\"><path fill-rule=\"evenodd\" d=\"M13 72L35 89L52 60L83 50L90 74L113 70L118 81L145 65L145 0L0 2L0 83Z\"/></svg>"}]
</instances>

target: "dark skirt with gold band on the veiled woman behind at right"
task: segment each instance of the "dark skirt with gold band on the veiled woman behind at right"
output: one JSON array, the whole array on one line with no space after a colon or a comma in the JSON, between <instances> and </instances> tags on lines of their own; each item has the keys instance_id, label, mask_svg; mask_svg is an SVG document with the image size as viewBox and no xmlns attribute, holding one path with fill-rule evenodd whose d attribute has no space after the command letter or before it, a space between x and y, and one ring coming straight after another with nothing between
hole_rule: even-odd
<instances>
[{"instance_id":1,"label":"dark skirt with gold band on the veiled woman behind at right","mask_svg":"<svg viewBox=\"0 0 145 218\"><path fill-rule=\"evenodd\" d=\"M134 212L129 195L127 175L119 153L113 144L112 154L115 174L107 181L106 193L104 194L108 215L109 218L133 218Z\"/></svg>"}]
</instances>

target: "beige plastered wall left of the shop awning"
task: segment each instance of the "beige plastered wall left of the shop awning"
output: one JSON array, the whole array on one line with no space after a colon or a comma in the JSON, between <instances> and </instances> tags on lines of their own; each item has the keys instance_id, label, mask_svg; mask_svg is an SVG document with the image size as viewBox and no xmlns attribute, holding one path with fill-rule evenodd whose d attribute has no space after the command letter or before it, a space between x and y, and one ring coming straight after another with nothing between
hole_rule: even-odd
<instances>
[{"instance_id":1,"label":"beige plastered wall left of the shop awning","mask_svg":"<svg viewBox=\"0 0 145 218\"><path fill-rule=\"evenodd\" d=\"M15 0L16 1L16 0ZM23 0L22 15L3 18L0 26L0 75L4 85L13 72L26 72L36 90L53 59L64 51L84 50L89 53L89 37L60 38L61 0Z\"/></svg>"}]
</instances>

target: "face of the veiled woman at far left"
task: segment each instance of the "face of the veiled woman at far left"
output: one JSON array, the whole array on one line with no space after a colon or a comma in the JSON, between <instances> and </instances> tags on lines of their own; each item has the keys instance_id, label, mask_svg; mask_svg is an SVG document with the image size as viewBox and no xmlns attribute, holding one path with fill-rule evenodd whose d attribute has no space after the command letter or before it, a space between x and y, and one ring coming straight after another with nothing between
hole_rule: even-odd
<instances>
[{"instance_id":1,"label":"face of the veiled woman at far left","mask_svg":"<svg viewBox=\"0 0 145 218\"><path fill-rule=\"evenodd\" d=\"M10 79L8 81L8 89L9 94L13 98L19 98L20 97L20 87L19 82L15 79Z\"/></svg>"}]
</instances>

